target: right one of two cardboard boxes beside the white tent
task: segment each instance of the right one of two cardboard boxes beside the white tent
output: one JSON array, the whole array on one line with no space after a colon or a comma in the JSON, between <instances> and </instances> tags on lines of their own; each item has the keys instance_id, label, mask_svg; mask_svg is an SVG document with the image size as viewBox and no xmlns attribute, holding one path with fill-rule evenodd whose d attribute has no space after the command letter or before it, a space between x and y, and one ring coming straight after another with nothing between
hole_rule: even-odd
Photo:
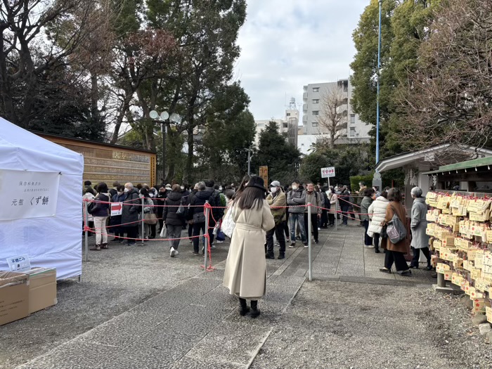
<instances>
[{"instance_id":1,"label":"right one of two cardboard boxes beside the white tent","mask_svg":"<svg viewBox=\"0 0 492 369\"><path fill-rule=\"evenodd\" d=\"M29 274L29 313L56 305L56 269L32 268Z\"/></svg>"}]
</instances>

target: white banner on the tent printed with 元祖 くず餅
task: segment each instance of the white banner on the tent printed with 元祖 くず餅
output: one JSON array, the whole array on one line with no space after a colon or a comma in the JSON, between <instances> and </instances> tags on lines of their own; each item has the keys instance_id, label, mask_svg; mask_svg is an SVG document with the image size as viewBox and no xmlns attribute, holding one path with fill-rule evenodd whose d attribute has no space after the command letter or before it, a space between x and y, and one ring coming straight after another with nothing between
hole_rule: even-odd
<instances>
[{"instance_id":1,"label":"white banner on the tent printed with \u5143\u7956 \u304f\u305a\u9905","mask_svg":"<svg viewBox=\"0 0 492 369\"><path fill-rule=\"evenodd\" d=\"M60 175L0 169L0 221L55 216Z\"/></svg>"}]
</instances>

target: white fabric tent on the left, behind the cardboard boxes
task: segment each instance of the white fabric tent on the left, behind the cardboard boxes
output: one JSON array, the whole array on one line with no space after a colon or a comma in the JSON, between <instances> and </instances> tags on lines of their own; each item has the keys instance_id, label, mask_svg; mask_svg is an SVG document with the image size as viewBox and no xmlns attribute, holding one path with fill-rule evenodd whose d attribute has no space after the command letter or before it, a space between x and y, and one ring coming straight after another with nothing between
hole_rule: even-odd
<instances>
[{"instance_id":1,"label":"white fabric tent on the left, behind the cardboard boxes","mask_svg":"<svg viewBox=\"0 0 492 369\"><path fill-rule=\"evenodd\" d=\"M58 193L50 199L55 201L50 203L53 212L56 209L52 216L0 220L0 270L8 270L9 257L27 254L32 266L56 268L57 279L80 276L84 157L0 117L0 207L14 209L15 200L8 193L22 181L6 181L7 172L56 173L59 186L57 178Z\"/></svg>"}]
</instances>

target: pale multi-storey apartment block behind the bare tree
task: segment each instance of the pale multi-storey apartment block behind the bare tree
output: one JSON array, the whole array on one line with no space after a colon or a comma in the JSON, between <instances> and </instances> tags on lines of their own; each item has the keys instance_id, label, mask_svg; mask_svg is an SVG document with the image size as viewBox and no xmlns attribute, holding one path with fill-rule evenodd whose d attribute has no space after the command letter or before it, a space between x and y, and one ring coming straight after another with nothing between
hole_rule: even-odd
<instances>
[{"instance_id":1,"label":"pale multi-storey apartment block behind the bare tree","mask_svg":"<svg viewBox=\"0 0 492 369\"><path fill-rule=\"evenodd\" d=\"M339 105L337 110L342 115L342 122L347 124L347 128L339 131L337 143L369 142L371 125L362 122L352 109L352 90L349 79L304 86L304 93L302 95L302 126L304 135L323 136L328 134L328 130L320 124L318 118L320 115L323 115L323 98L333 93L333 91L337 91L337 93L342 94L344 97L342 105Z\"/></svg>"}]
</instances>

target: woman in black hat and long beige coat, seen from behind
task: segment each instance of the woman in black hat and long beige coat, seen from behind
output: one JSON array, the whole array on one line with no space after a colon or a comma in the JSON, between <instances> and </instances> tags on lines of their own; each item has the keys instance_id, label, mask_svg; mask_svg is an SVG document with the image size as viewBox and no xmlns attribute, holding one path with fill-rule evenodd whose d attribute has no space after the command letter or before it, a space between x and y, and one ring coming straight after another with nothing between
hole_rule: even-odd
<instances>
[{"instance_id":1,"label":"woman in black hat and long beige coat, seen from behind","mask_svg":"<svg viewBox=\"0 0 492 369\"><path fill-rule=\"evenodd\" d=\"M265 233L275 226L265 193L263 179L253 176L229 210L233 212L235 228L227 255L224 286L239 297L241 316L250 311L246 299L251 299L252 318L259 316L258 299L266 290Z\"/></svg>"}]
</instances>

